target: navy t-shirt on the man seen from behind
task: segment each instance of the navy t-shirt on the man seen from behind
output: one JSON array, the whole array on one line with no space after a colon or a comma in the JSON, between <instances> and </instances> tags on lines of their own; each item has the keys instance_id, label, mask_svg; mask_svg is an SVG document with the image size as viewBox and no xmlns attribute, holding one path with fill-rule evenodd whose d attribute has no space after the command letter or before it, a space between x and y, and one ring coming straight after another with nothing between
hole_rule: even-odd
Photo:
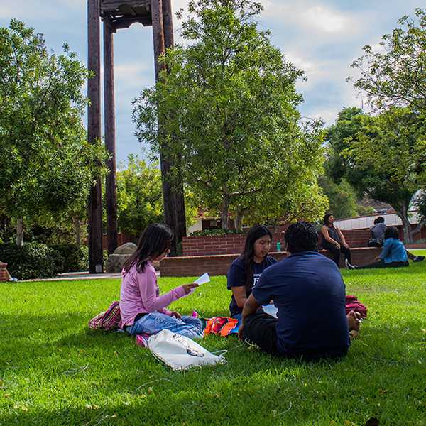
<instances>
[{"instance_id":1,"label":"navy t-shirt on the man seen from behind","mask_svg":"<svg viewBox=\"0 0 426 426\"><path fill-rule=\"evenodd\" d=\"M264 305L278 308L277 349L289 355L340 356L350 339L345 286L336 264L316 251L303 251L265 271L253 288Z\"/></svg>"}]
</instances>

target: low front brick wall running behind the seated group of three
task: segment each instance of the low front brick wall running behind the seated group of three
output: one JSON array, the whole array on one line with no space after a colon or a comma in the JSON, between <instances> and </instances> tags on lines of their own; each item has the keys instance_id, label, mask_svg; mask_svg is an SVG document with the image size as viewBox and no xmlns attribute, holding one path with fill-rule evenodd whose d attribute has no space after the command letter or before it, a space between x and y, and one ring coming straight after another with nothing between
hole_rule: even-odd
<instances>
[{"instance_id":1,"label":"low front brick wall running behind the seated group of three","mask_svg":"<svg viewBox=\"0 0 426 426\"><path fill-rule=\"evenodd\" d=\"M352 249L352 262L355 265L366 265L374 261L381 249L360 248ZM325 256L331 257L329 251L322 251ZM226 275L231 263L238 257L238 254L219 254L214 256L182 256L164 258L160 263L162 277L187 277L199 276L207 272L209 275ZM275 259L280 261L287 256L285 251L271 253ZM341 267L344 266L344 259L341 256Z\"/></svg>"}]
</instances>

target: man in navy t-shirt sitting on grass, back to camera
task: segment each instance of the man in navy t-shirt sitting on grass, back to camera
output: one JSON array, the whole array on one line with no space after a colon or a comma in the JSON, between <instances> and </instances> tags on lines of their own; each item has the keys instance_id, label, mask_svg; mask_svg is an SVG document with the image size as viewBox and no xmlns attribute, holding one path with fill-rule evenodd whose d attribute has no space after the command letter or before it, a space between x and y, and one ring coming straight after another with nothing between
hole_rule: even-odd
<instances>
[{"instance_id":1,"label":"man in navy t-shirt sitting on grass, back to camera","mask_svg":"<svg viewBox=\"0 0 426 426\"><path fill-rule=\"evenodd\" d=\"M312 224L289 226L285 241L290 256L263 271L244 305L240 339L281 356L344 356L350 345L349 330L359 329L359 320L354 312L346 316L339 268L318 253ZM278 318L256 313L270 300L278 308Z\"/></svg>"}]
</instances>

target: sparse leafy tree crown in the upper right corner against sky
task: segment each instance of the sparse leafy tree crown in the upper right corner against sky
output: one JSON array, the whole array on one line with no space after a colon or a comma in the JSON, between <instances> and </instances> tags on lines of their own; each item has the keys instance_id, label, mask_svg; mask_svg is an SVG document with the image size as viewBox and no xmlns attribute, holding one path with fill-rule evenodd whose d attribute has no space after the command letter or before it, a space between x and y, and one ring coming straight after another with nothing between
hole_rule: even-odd
<instances>
[{"instance_id":1,"label":"sparse leafy tree crown in the upper right corner against sky","mask_svg":"<svg viewBox=\"0 0 426 426\"><path fill-rule=\"evenodd\" d=\"M366 45L352 63L361 71L354 86L381 111L410 106L426 113L426 11L417 8L414 19L403 16L398 23L403 28L383 35L381 51Z\"/></svg>"}]
</instances>

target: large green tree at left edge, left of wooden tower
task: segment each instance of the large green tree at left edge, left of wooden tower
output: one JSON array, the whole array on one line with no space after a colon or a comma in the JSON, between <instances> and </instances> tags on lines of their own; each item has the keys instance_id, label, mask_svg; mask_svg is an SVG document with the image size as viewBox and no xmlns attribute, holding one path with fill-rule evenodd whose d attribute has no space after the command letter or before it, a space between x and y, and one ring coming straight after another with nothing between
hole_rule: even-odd
<instances>
[{"instance_id":1,"label":"large green tree at left edge, left of wooden tower","mask_svg":"<svg viewBox=\"0 0 426 426\"><path fill-rule=\"evenodd\" d=\"M0 28L1 209L16 219L58 218L86 202L104 168L82 124L88 72L67 45L48 53L42 34L20 21Z\"/></svg>"}]
</instances>

